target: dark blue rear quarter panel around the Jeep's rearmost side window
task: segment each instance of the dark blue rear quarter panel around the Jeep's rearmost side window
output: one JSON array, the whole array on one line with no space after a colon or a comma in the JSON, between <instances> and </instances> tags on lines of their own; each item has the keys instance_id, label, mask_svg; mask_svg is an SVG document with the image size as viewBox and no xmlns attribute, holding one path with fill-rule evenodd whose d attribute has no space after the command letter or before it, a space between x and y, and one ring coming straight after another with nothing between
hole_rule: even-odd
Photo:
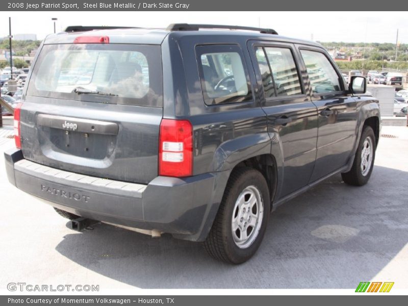
<instances>
[{"instance_id":1,"label":"dark blue rear quarter panel around the Jeep's rearmost side window","mask_svg":"<svg viewBox=\"0 0 408 306\"><path fill-rule=\"evenodd\" d=\"M232 169L240 161L270 154L267 118L260 107L252 63L246 49L246 37L186 35L172 32L164 40L164 118L188 119L194 133L194 175ZM215 34L214 34L215 33ZM238 45L249 73L252 100L206 105L203 99L195 47L197 45ZM169 56L164 53L168 53ZM171 60L167 60L166 58ZM167 62L167 63L166 63ZM168 82L167 82L168 81ZM166 98L168 97L168 98Z\"/></svg>"}]
</instances>

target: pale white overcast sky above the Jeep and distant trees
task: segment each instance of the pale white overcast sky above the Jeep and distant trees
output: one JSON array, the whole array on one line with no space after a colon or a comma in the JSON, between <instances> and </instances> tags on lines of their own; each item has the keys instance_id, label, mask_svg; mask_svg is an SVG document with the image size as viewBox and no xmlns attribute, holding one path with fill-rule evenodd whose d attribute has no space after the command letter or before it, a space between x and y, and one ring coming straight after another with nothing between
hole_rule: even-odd
<instances>
[{"instance_id":1,"label":"pale white overcast sky above the Jeep and distant trees","mask_svg":"<svg viewBox=\"0 0 408 306\"><path fill-rule=\"evenodd\" d=\"M408 43L407 12L1 12L0 37L36 34L43 39L68 25L164 28L170 23L211 23L272 28L280 35L322 42Z\"/></svg>"}]
</instances>

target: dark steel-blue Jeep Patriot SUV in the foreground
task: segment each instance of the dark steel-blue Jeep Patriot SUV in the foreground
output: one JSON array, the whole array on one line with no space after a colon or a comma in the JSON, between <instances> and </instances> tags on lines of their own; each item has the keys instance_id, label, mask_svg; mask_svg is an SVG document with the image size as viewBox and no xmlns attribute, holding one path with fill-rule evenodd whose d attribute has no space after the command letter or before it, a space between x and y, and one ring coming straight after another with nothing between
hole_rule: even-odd
<instances>
[{"instance_id":1,"label":"dark steel-blue Jeep Patriot SUV in the foreground","mask_svg":"<svg viewBox=\"0 0 408 306\"><path fill-rule=\"evenodd\" d=\"M320 44L222 25L74 29L42 42L5 153L9 181L74 228L169 233L239 264L285 201L334 174L370 179L378 100ZM89 84L58 84L85 65Z\"/></svg>"}]
</instances>

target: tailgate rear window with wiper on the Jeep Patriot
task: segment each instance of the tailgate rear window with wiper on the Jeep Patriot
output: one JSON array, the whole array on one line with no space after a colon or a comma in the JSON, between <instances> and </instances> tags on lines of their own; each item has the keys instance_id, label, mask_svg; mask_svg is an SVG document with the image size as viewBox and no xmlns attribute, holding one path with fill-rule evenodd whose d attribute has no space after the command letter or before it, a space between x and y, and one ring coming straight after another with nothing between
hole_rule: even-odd
<instances>
[{"instance_id":1,"label":"tailgate rear window with wiper on the Jeep Patriot","mask_svg":"<svg viewBox=\"0 0 408 306\"><path fill-rule=\"evenodd\" d=\"M28 95L138 106L163 106L160 46L44 45Z\"/></svg>"}]
</instances>

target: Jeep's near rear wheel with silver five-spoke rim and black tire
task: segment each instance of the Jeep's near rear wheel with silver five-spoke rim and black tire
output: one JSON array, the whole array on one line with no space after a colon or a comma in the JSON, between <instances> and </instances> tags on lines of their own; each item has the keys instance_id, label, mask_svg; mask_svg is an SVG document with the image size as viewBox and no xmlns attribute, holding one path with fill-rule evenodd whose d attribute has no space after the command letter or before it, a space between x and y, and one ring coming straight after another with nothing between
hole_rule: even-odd
<instances>
[{"instance_id":1,"label":"Jeep's near rear wheel with silver five-spoke rim and black tire","mask_svg":"<svg viewBox=\"0 0 408 306\"><path fill-rule=\"evenodd\" d=\"M206 250L227 263L246 262L261 245L269 213L269 189L262 173L247 167L235 169L204 242Z\"/></svg>"}]
</instances>

